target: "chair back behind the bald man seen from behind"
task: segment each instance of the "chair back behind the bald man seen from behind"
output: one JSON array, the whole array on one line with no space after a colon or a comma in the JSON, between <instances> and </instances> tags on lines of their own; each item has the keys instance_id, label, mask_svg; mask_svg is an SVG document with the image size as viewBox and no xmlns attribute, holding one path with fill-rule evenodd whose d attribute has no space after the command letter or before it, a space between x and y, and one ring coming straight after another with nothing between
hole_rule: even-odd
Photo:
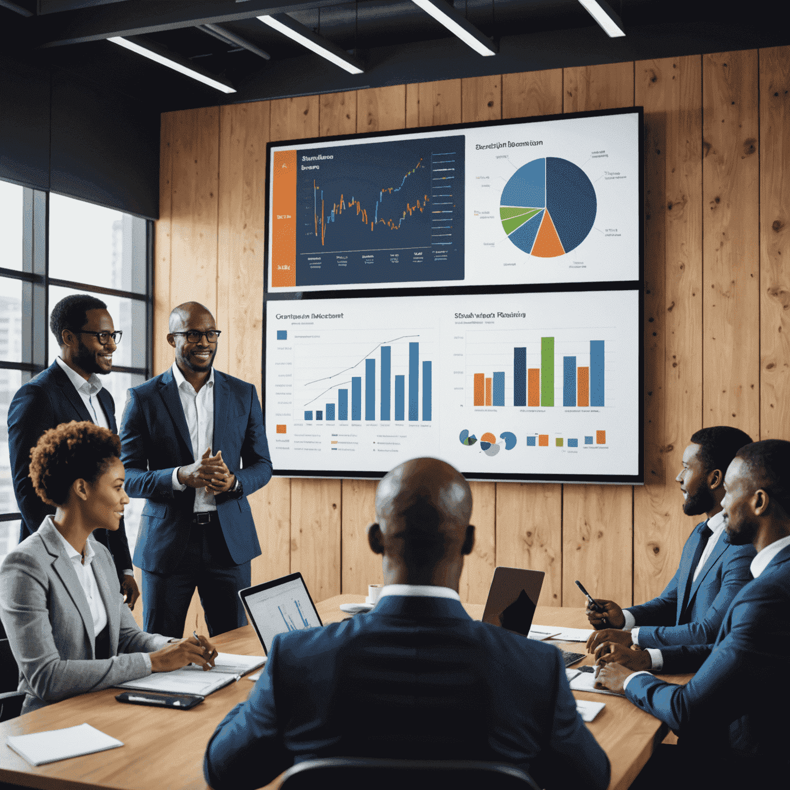
<instances>
[{"instance_id":1,"label":"chair back behind the bald man seen from behind","mask_svg":"<svg viewBox=\"0 0 790 790\"><path fill-rule=\"evenodd\" d=\"M336 757L289 768L280 790L540 790L528 773L498 762Z\"/></svg>"}]
</instances>

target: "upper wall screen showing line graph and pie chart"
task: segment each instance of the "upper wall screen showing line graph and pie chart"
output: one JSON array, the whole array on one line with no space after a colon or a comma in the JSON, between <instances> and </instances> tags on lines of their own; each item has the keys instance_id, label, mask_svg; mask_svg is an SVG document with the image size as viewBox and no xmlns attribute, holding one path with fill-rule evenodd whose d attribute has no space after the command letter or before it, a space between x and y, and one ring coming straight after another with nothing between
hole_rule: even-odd
<instances>
[{"instance_id":1,"label":"upper wall screen showing line graph and pie chart","mask_svg":"<svg viewBox=\"0 0 790 790\"><path fill-rule=\"evenodd\" d=\"M639 279L641 108L267 146L269 293Z\"/></svg>"}]
</instances>

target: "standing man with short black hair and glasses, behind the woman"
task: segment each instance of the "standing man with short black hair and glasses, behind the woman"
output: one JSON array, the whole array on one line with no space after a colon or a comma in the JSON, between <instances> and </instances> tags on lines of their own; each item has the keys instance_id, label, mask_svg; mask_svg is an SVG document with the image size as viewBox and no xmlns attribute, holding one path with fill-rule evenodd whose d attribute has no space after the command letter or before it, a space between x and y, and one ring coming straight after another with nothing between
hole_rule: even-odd
<instances>
[{"instance_id":1,"label":"standing man with short black hair and glasses, behind the woman","mask_svg":"<svg viewBox=\"0 0 790 790\"><path fill-rule=\"evenodd\" d=\"M66 296L52 308L50 328L60 345L60 356L17 390L8 409L13 489L22 515L20 543L39 529L45 517L55 514L55 508L36 495L28 473L30 450L41 434L73 419L88 420L118 433L115 401L99 379L111 373L115 344L121 340L107 305L88 294ZM123 521L117 532L98 529L93 536L110 550L121 592L133 609L140 591Z\"/></svg>"}]
</instances>

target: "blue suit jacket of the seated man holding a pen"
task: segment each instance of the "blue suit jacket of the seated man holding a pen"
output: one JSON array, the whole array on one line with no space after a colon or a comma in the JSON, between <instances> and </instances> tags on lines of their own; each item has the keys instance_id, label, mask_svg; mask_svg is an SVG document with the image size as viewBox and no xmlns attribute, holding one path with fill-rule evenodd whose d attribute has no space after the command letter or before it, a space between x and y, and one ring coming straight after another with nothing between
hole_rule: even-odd
<instances>
[{"instance_id":1,"label":"blue suit jacket of the seated man holding a pen","mask_svg":"<svg viewBox=\"0 0 790 790\"><path fill-rule=\"evenodd\" d=\"M698 577L691 583L683 606L686 586L694 577L694 554L706 523L702 521L691 532L683 546L678 570L664 592L646 604L629 608L639 626L640 647L663 649L672 645L712 644L732 599L751 581L749 566L754 558L754 546L726 544L722 532Z\"/></svg>"}]
</instances>

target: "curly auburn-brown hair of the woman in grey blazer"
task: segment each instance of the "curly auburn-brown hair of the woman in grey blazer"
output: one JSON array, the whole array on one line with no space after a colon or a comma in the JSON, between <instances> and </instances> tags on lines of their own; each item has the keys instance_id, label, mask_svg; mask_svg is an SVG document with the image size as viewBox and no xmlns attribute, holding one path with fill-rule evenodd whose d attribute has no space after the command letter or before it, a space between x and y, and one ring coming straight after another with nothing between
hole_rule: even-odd
<instances>
[{"instance_id":1,"label":"curly auburn-brown hair of the woman in grey blazer","mask_svg":"<svg viewBox=\"0 0 790 790\"><path fill-rule=\"evenodd\" d=\"M121 440L112 431L72 420L41 435L30 451L30 478L36 494L57 507L66 503L74 480L96 483L111 460L120 457Z\"/></svg>"}]
</instances>

